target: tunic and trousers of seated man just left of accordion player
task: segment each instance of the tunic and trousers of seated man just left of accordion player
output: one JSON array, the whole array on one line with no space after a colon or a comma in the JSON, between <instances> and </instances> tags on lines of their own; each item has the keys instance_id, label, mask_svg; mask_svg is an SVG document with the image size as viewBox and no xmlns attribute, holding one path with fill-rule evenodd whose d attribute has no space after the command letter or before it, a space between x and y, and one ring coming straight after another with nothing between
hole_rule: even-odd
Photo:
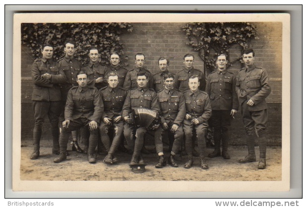
<instances>
[{"instance_id":1,"label":"tunic and trousers of seated man just left of accordion player","mask_svg":"<svg viewBox=\"0 0 307 208\"><path fill-rule=\"evenodd\" d=\"M114 154L121 142L121 137L123 136L123 120L114 123L114 119L122 116L123 103L127 95L127 91L122 87L112 88L110 86L100 89L100 95L104 103L104 112L100 121L100 138L108 153ZM107 125L104 123L103 119L112 119L113 125ZM111 127L114 127L115 136L111 145L111 140L108 136L108 132Z\"/></svg>"}]
</instances>

